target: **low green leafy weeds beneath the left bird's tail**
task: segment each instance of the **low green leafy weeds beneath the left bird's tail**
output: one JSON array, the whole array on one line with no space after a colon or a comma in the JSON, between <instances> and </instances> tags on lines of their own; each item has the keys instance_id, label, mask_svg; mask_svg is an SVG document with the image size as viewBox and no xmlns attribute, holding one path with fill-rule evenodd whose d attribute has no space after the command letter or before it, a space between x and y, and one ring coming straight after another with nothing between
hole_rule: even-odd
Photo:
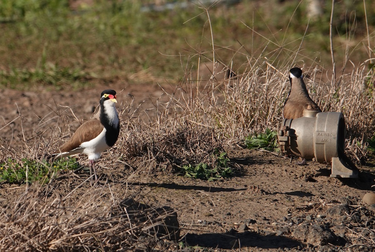
<instances>
[{"instance_id":1,"label":"low green leafy weeds beneath the left bird's tail","mask_svg":"<svg viewBox=\"0 0 375 252\"><path fill-rule=\"evenodd\" d=\"M21 163L8 158L6 162L0 163L0 183L31 183L42 180L45 182L57 171L75 170L80 167L75 158L55 160L52 164L45 159L42 162L23 158Z\"/></svg>"}]
</instances>

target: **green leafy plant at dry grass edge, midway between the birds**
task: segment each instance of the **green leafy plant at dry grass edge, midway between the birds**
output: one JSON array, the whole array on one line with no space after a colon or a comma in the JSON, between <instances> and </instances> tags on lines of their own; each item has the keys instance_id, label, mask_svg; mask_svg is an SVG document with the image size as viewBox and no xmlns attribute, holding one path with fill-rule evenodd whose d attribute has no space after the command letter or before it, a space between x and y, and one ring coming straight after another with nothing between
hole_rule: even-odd
<instances>
[{"instance_id":1,"label":"green leafy plant at dry grass edge, midway between the birds","mask_svg":"<svg viewBox=\"0 0 375 252\"><path fill-rule=\"evenodd\" d=\"M233 170L230 166L228 166L229 158L226 152L219 151L217 148L215 148L213 151L213 156L215 159L213 166L210 166L207 163L183 165L183 175L185 175L185 177L198 178L208 181L231 177L233 175Z\"/></svg>"}]
</instances>

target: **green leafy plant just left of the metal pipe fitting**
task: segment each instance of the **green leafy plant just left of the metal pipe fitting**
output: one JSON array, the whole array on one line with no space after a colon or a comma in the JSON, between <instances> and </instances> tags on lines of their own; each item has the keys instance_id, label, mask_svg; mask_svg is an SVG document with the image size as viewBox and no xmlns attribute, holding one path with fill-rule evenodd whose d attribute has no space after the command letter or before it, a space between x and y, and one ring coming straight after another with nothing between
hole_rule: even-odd
<instances>
[{"instance_id":1,"label":"green leafy plant just left of the metal pipe fitting","mask_svg":"<svg viewBox=\"0 0 375 252\"><path fill-rule=\"evenodd\" d=\"M278 132L266 129L266 133L248 136L245 138L245 145L248 149L264 149L279 152Z\"/></svg>"}]
</instances>

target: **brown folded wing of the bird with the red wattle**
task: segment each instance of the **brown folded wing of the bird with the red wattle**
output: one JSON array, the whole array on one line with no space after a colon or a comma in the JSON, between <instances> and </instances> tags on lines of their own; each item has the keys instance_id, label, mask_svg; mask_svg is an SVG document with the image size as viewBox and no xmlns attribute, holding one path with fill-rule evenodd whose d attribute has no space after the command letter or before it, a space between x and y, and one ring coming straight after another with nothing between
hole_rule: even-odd
<instances>
[{"instance_id":1,"label":"brown folded wing of the bird with the red wattle","mask_svg":"<svg viewBox=\"0 0 375 252\"><path fill-rule=\"evenodd\" d=\"M90 119L83 123L78 129L74 132L73 136L65 142L55 154L60 152L66 152L74 150L75 148L80 147L83 142L90 141L91 139L96 138L102 130L104 126L100 123L100 121L96 118Z\"/></svg>"}]
</instances>

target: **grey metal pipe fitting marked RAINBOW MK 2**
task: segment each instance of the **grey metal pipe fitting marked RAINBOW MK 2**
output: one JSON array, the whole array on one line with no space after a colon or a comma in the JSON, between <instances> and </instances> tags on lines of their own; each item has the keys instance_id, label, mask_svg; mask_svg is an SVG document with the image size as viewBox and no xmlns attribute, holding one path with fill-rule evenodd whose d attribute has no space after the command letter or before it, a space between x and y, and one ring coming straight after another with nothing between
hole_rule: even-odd
<instances>
[{"instance_id":1,"label":"grey metal pipe fitting marked RAINBOW MK 2","mask_svg":"<svg viewBox=\"0 0 375 252\"><path fill-rule=\"evenodd\" d=\"M345 119L341 112L306 109L303 117L284 119L278 138L285 154L330 163L331 177L358 177L358 170L344 162Z\"/></svg>"}]
</instances>

